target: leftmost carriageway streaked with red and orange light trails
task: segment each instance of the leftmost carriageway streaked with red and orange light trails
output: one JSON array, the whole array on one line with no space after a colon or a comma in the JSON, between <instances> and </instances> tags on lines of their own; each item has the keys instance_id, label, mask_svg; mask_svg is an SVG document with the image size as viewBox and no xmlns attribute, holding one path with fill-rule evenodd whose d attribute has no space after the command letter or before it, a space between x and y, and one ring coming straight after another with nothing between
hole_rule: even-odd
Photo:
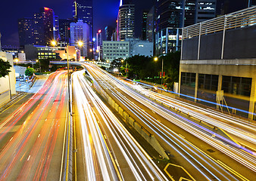
<instances>
[{"instance_id":1,"label":"leftmost carriageway streaked with red and orange light trails","mask_svg":"<svg viewBox=\"0 0 256 181\"><path fill-rule=\"evenodd\" d=\"M0 123L0 180L60 180L67 118L67 72L54 72Z\"/></svg>"}]
</instances>

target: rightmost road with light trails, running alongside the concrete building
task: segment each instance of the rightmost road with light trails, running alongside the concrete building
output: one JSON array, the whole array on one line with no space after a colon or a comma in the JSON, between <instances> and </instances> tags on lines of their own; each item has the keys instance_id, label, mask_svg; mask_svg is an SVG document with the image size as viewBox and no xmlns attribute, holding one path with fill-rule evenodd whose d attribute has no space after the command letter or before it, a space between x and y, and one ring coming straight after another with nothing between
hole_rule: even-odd
<instances>
[{"instance_id":1,"label":"rightmost road with light trails, running alongside the concrete building","mask_svg":"<svg viewBox=\"0 0 256 181\"><path fill-rule=\"evenodd\" d=\"M199 121L204 121L210 125L214 125L215 127L219 127L225 130L226 133L229 133L230 136L236 140L236 143L242 144L242 146L245 146L245 148L251 150L251 152L246 149L245 151L256 155L256 124L253 122L245 121L242 118L226 115L222 112L214 111L213 109L205 109L192 105L191 103L185 103L181 100L167 97L163 94L155 93L146 88L143 88L145 87L143 84L134 84L131 81L123 82L144 94L146 97L151 98L151 100L155 100L156 102L164 104L167 107L180 110L190 117L197 118Z\"/></svg>"}]
</instances>

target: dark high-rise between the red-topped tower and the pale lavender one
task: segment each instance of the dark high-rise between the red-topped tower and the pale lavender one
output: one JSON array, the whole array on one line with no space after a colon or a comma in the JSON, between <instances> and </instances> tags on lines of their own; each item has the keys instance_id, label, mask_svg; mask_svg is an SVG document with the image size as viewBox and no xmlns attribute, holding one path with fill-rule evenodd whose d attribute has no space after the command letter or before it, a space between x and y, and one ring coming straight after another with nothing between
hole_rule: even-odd
<instances>
[{"instance_id":1,"label":"dark high-rise between the red-topped tower and the pale lavender one","mask_svg":"<svg viewBox=\"0 0 256 181\"><path fill-rule=\"evenodd\" d=\"M58 41L58 44L66 46L70 43L70 23L73 23L73 20L59 20L60 40Z\"/></svg>"}]
</instances>

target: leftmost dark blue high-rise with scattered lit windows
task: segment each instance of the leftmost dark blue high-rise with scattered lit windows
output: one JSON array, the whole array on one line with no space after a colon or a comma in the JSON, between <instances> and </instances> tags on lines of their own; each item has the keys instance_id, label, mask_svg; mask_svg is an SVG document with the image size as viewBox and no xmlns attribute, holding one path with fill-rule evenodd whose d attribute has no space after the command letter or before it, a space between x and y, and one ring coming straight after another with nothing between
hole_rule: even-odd
<instances>
[{"instance_id":1,"label":"leftmost dark blue high-rise with scattered lit windows","mask_svg":"<svg viewBox=\"0 0 256 181\"><path fill-rule=\"evenodd\" d=\"M24 47L25 44L34 44L34 29L32 18L21 18L18 20L18 31L20 47Z\"/></svg>"}]
</instances>

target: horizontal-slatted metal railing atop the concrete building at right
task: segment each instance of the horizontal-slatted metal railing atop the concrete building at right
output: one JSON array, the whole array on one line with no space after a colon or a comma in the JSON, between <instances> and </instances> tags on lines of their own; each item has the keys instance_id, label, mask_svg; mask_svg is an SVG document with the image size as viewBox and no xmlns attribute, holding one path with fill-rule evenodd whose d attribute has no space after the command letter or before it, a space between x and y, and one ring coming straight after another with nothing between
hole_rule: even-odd
<instances>
[{"instance_id":1,"label":"horizontal-slatted metal railing atop the concrete building at right","mask_svg":"<svg viewBox=\"0 0 256 181\"><path fill-rule=\"evenodd\" d=\"M183 39L256 25L256 6L183 28Z\"/></svg>"}]
</instances>

